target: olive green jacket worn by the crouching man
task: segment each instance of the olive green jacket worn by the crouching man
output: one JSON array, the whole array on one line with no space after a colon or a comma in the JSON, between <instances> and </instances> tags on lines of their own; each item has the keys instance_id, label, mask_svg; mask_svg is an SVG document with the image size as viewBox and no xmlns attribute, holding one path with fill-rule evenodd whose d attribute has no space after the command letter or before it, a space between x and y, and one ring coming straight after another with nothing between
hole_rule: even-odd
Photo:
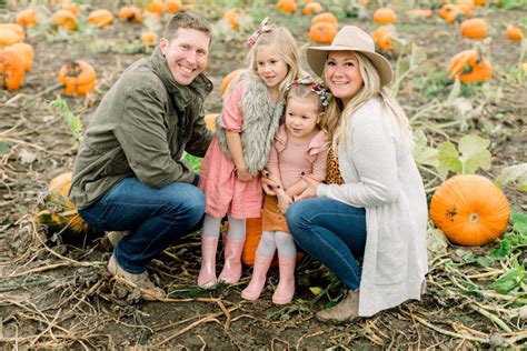
<instances>
[{"instance_id":1,"label":"olive green jacket worn by the crouching man","mask_svg":"<svg viewBox=\"0 0 527 351\"><path fill-rule=\"evenodd\" d=\"M126 177L161 188L191 183L183 150L202 157L212 139L203 100L212 83L199 74L189 86L173 79L159 48L131 64L108 91L86 130L73 166L70 200L78 209L98 201Z\"/></svg>"}]
</instances>

